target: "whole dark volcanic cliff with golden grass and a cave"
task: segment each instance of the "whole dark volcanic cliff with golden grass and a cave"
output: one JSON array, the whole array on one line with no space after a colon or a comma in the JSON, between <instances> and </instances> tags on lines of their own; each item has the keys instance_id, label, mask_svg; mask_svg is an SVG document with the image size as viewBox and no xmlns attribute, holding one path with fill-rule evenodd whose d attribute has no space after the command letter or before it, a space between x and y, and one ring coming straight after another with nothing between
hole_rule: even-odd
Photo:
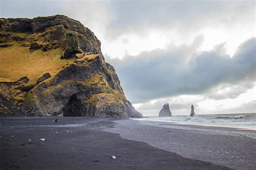
<instances>
[{"instance_id":1,"label":"whole dark volcanic cliff with golden grass and a cave","mask_svg":"<svg viewBox=\"0 0 256 170\"><path fill-rule=\"evenodd\" d=\"M142 117L77 20L1 18L0 62L1 116Z\"/></svg>"}]
</instances>

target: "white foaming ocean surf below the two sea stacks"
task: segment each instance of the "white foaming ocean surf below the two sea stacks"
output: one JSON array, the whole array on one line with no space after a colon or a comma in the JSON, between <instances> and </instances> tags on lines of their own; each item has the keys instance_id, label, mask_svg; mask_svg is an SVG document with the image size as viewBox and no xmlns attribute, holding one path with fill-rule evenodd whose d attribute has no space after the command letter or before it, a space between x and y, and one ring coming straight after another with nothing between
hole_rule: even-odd
<instances>
[{"instance_id":1,"label":"white foaming ocean surf below the two sea stacks","mask_svg":"<svg viewBox=\"0 0 256 170\"><path fill-rule=\"evenodd\" d=\"M176 124L221 126L230 128L242 128L256 130L255 114L221 114L221 115L196 115L172 116L172 117L146 117L142 119L133 118L140 121L170 122Z\"/></svg>"}]
</instances>

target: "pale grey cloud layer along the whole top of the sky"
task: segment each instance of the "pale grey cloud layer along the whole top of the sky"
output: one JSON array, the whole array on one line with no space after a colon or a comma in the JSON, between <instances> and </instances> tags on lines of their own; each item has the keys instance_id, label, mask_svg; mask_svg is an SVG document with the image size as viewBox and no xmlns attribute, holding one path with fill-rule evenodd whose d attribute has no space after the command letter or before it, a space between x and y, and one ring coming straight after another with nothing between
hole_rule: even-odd
<instances>
[{"instance_id":1,"label":"pale grey cloud layer along the whole top of the sky","mask_svg":"<svg viewBox=\"0 0 256 170\"><path fill-rule=\"evenodd\" d=\"M10 10L11 9L11 10ZM25 9L25 10L24 10ZM174 31L187 37L203 27L226 27L255 20L254 1L33 1L2 0L0 17L63 14L110 40L123 34ZM96 34L97 35L97 34Z\"/></svg>"}]
</instances>

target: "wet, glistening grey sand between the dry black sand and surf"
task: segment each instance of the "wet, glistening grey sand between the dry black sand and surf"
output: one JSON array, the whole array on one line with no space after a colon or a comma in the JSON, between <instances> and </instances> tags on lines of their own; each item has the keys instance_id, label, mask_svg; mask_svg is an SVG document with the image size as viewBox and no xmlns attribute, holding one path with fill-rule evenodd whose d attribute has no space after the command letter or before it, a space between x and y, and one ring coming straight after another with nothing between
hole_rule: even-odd
<instances>
[{"instance_id":1,"label":"wet, glistening grey sand between the dry black sand and surf","mask_svg":"<svg viewBox=\"0 0 256 170\"><path fill-rule=\"evenodd\" d=\"M113 129L104 131L190 159L234 169L256 167L256 131L253 130L132 119L114 122L117 125Z\"/></svg>"}]
</instances>

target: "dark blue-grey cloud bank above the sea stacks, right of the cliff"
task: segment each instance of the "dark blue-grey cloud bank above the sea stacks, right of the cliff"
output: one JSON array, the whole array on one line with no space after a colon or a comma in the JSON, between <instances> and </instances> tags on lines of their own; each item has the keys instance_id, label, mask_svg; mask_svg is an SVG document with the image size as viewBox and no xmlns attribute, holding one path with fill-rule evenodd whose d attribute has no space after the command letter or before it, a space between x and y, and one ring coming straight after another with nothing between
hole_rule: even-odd
<instances>
[{"instance_id":1,"label":"dark blue-grey cloud bank above the sea stacks, right of the cliff","mask_svg":"<svg viewBox=\"0 0 256 170\"><path fill-rule=\"evenodd\" d=\"M116 68L125 93L133 103L203 94L222 83L255 81L255 38L243 42L232 58L225 54L224 44L212 51L196 53L201 41L197 38L191 46L154 49L123 60L106 59Z\"/></svg>"}]
</instances>

